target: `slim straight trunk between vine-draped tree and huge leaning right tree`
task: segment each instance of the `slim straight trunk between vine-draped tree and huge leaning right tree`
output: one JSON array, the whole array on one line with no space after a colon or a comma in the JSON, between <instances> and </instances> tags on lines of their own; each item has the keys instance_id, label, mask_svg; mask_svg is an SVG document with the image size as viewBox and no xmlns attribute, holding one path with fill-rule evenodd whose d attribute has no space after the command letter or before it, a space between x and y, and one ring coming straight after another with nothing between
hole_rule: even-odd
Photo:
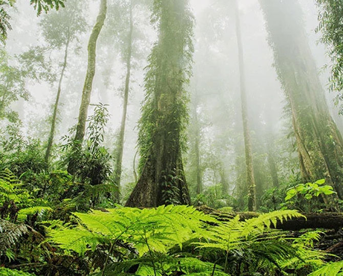
<instances>
[{"instance_id":1,"label":"slim straight trunk between vine-draped tree and huge leaning right tree","mask_svg":"<svg viewBox=\"0 0 343 276\"><path fill-rule=\"evenodd\" d=\"M247 189L248 189L248 210L256 210L256 187L253 174L252 166L252 153L251 153L251 142L250 133L248 126L248 108L246 99L246 88L245 88L245 72L244 72L244 58L243 58L243 45L241 37L241 23L238 9L237 0L234 0L235 5L235 17L236 17L236 35L238 45L238 57L239 57L239 68L240 68L240 86L241 86L241 103L242 103L242 120L243 120L243 134L244 134L244 147L245 147L245 163L247 173Z\"/></svg>"}]
</instances>

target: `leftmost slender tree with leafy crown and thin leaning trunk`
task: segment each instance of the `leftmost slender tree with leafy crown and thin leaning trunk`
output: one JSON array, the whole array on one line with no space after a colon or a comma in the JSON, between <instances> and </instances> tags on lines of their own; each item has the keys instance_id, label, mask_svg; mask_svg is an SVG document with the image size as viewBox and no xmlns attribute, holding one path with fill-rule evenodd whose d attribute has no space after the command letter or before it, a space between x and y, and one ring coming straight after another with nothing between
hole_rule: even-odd
<instances>
[{"instance_id":1,"label":"leftmost slender tree with leafy crown and thin leaning trunk","mask_svg":"<svg viewBox=\"0 0 343 276\"><path fill-rule=\"evenodd\" d=\"M61 71L59 74L58 88L56 100L53 107L51 128L48 138L48 145L45 153L45 161L48 163L52 144L54 141L54 134L56 128L58 104L61 96L61 86L63 77L65 75L68 59L68 51L70 44L77 40L77 36L83 33L86 29L87 22L82 14L84 4L77 0L69 0L65 9L49 13L40 22L42 32L50 49L64 49L64 57L61 63Z\"/></svg>"}]
</instances>

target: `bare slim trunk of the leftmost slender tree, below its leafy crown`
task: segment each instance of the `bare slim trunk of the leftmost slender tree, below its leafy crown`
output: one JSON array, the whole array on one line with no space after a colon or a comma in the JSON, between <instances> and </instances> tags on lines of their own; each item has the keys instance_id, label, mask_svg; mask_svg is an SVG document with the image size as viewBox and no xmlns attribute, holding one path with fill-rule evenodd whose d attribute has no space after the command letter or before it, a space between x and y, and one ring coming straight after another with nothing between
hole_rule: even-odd
<instances>
[{"instance_id":1,"label":"bare slim trunk of the leftmost slender tree, below its leafy crown","mask_svg":"<svg viewBox=\"0 0 343 276\"><path fill-rule=\"evenodd\" d=\"M66 71L66 67L67 67L67 57L68 57L69 42L70 42L70 36L68 36L68 39L67 39L67 42L66 42L65 58L64 58L64 61L63 61L61 75L59 77L56 101L55 101L55 105L54 105L54 111L53 111L53 114L52 114L51 129L50 129L50 134L49 134L49 139L48 139L47 150L45 152L45 162L47 164L49 163L51 148L52 148L52 144L54 142L56 121L57 121L57 113L58 113L58 103L59 103L59 98L60 98L60 95L61 95L62 80L63 80L63 76L65 75L65 71Z\"/></svg>"}]
</instances>

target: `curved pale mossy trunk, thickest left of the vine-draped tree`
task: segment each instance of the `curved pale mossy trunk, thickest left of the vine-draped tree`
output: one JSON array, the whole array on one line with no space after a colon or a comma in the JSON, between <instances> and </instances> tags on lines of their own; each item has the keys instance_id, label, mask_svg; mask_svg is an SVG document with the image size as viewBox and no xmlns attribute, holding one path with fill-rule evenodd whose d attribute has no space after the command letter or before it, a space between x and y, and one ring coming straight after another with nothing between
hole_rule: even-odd
<instances>
[{"instance_id":1,"label":"curved pale mossy trunk, thickest left of the vine-draped tree","mask_svg":"<svg viewBox=\"0 0 343 276\"><path fill-rule=\"evenodd\" d=\"M76 134L74 137L75 147L78 148L81 146L83 141L84 132L85 132L85 124L87 121L88 116L88 107L91 101L91 93L92 93L92 86L93 86L93 79L95 75L95 62L96 62L96 43L101 32L102 26L106 19L106 11L107 11L107 0L101 0L100 7L99 7L99 14L96 19L96 23L93 27L91 36L88 42L88 65L87 65L87 73L84 80L83 90L82 90L82 98L78 116L78 122L76 126ZM68 165L68 172L73 173L74 171L74 160L70 160Z\"/></svg>"}]
</instances>

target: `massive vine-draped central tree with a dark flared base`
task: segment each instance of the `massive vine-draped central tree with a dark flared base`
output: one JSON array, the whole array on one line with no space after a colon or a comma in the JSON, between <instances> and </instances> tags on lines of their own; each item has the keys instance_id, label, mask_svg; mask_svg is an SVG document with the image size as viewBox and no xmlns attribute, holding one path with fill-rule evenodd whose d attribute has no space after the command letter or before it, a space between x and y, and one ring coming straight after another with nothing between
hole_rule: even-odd
<instances>
[{"instance_id":1,"label":"massive vine-draped central tree with a dark flared base","mask_svg":"<svg viewBox=\"0 0 343 276\"><path fill-rule=\"evenodd\" d=\"M156 0L152 18L159 39L145 76L140 177L127 206L190 203L181 153L188 121L185 84L191 74L193 17L187 0Z\"/></svg>"}]
</instances>

